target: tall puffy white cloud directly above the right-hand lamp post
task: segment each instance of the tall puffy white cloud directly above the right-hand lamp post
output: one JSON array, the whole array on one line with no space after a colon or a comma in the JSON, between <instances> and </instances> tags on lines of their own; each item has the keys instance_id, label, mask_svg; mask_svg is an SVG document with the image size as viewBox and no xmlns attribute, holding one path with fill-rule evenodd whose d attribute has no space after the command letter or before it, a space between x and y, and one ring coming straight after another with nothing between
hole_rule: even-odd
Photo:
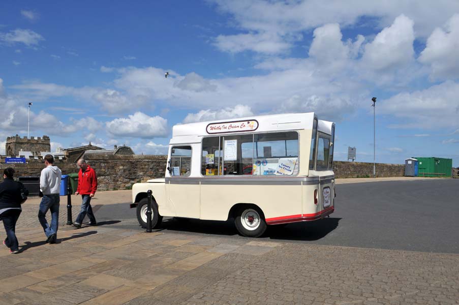
<instances>
[{"instance_id":1,"label":"tall puffy white cloud directly above the right-hand lamp post","mask_svg":"<svg viewBox=\"0 0 459 305\"><path fill-rule=\"evenodd\" d=\"M366 44L362 62L374 70L400 69L414 59L413 20L400 15L393 24L376 35L373 42Z\"/></svg>"}]
</instances>

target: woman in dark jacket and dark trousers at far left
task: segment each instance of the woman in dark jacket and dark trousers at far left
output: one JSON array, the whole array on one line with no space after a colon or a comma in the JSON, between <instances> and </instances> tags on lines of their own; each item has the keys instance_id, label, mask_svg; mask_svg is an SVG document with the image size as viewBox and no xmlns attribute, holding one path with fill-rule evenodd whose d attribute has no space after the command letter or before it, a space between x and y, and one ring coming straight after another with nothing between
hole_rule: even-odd
<instances>
[{"instance_id":1,"label":"woman in dark jacket and dark trousers at far left","mask_svg":"<svg viewBox=\"0 0 459 305\"><path fill-rule=\"evenodd\" d=\"M16 222L21 214L21 184L13 180L14 169L9 167L3 172L4 181L0 183L0 219L3 221L7 238L3 244L10 248L10 253L19 253L16 238Z\"/></svg>"}]
</instances>

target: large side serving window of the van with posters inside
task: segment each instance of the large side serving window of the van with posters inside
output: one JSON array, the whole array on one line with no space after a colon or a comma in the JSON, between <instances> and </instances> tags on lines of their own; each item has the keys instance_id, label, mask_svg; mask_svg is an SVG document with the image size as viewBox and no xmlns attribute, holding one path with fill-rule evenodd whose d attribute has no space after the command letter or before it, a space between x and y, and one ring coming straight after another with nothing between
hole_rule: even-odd
<instances>
[{"instance_id":1,"label":"large side serving window of the van with posters inside","mask_svg":"<svg viewBox=\"0 0 459 305\"><path fill-rule=\"evenodd\" d=\"M298 133L276 132L206 137L201 174L296 175Z\"/></svg>"}]
</instances>

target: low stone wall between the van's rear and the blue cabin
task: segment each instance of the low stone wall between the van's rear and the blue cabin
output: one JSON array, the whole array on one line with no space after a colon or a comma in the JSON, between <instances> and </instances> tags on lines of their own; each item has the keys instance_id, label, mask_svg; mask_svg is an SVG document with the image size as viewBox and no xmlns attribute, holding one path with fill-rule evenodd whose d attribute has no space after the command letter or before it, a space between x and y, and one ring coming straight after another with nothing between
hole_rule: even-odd
<instances>
[{"instance_id":1,"label":"low stone wall between the van's rear and the blue cabin","mask_svg":"<svg viewBox=\"0 0 459 305\"><path fill-rule=\"evenodd\" d=\"M373 177L373 163L333 161L336 178ZM405 175L404 164L376 163L377 177L402 177Z\"/></svg>"}]
</instances>

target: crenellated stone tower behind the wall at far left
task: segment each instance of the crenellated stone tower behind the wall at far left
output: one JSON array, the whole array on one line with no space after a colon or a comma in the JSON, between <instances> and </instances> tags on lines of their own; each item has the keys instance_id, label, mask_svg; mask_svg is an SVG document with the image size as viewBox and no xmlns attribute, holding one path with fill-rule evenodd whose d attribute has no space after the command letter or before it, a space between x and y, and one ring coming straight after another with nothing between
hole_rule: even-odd
<instances>
[{"instance_id":1,"label":"crenellated stone tower behind the wall at far left","mask_svg":"<svg viewBox=\"0 0 459 305\"><path fill-rule=\"evenodd\" d=\"M40 137L30 137L26 136L20 137L19 135L8 137L5 144L5 153L7 156L17 157L19 156L19 151L30 151L33 156L40 156L41 151L50 151L51 144L48 136Z\"/></svg>"}]
</instances>

